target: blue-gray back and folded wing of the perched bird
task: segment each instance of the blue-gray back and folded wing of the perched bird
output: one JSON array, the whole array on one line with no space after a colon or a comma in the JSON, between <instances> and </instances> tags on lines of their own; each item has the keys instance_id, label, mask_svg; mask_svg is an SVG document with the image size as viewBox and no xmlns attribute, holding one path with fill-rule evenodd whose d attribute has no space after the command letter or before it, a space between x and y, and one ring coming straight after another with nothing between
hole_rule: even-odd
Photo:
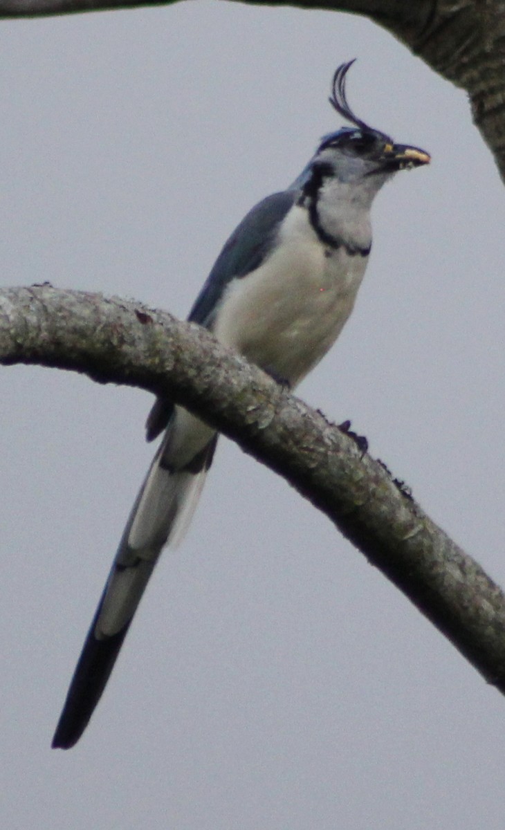
<instances>
[{"instance_id":1,"label":"blue-gray back and folded wing of the perched bird","mask_svg":"<svg viewBox=\"0 0 505 830\"><path fill-rule=\"evenodd\" d=\"M189 320L212 329L214 312L224 289L232 280L255 271L266 259L277 228L296 198L296 190L273 193L246 214L215 261Z\"/></svg>"}]
</instances>

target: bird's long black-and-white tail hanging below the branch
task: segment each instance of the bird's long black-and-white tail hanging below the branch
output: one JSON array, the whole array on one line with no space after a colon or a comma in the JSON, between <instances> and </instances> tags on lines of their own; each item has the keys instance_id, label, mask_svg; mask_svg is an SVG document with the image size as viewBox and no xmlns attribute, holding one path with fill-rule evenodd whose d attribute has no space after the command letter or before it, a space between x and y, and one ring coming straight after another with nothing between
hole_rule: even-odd
<instances>
[{"instance_id":1,"label":"bird's long black-and-white tail hanging below the branch","mask_svg":"<svg viewBox=\"0 0 505 830\"><path fill-rule=\"evenodd\" d=\"M53 747L70 749L101 698L126 632L165 544L189 524L217 435L176 408L125 527L56 726Z\"/></svg>"}]
</instances>

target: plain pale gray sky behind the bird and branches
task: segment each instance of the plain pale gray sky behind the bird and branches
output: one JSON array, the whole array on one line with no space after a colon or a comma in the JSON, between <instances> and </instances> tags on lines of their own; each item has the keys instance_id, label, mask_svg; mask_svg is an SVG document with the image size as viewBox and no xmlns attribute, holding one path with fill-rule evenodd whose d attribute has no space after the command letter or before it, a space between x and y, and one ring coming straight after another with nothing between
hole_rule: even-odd
<instances>
[{"instance_id":1,"label":"plain pale gray sky behind the bird and branches","mask_svg":"<svg viewBox=\"0 0 505 830\"><path fill-rule=\"evenodd\" d=\"M3 281L187 314L228 233L358 115L433 164L375 203L300 388L500 583L503 186L463 92L357 17L192 2L2 22ZM9 830L503 830L505 701L284 482L221 442L83 739L50 749L149 463L145 393L0 373Z\"/></svg>"}]
</instances>

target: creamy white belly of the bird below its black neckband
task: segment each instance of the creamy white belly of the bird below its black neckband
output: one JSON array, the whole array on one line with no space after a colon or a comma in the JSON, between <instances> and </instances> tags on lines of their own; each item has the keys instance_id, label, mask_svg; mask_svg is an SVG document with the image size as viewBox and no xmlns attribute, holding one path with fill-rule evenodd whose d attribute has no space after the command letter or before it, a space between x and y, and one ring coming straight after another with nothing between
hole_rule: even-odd
<instances>
[{"instance_id":1,"label":"creamy white belly of the bird below its black neckband","mask_svg":"<svg viewBox=\"0 0 505 830\"><path fill-rule=\"evenodd\" d=\"M349 256L344 247L325 249L301 207L292 210L277 242L264 265L230 283L213 331L223 344L295 386L341 333L366 257Z\"/></svg>"}]
</instances>

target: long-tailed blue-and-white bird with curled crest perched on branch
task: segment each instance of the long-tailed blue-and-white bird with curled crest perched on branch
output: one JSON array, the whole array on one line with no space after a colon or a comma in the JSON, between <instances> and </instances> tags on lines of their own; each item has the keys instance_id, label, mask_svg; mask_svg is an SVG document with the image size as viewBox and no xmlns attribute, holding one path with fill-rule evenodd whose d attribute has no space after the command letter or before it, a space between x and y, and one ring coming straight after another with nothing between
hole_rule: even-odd
<instances>
[{"instance_id":1,"label":"long-tailed blue-and-white bird with curled crest perched on branch","mask_svg":"<svg viewBox=\"0 0 505 830\"><path fill-rule=\"evenodd\" d=\"M189 320L294 389L346 323L370 255L370 207L399 170L429 154L357 118L346 96L355 61L338 66L330 103L349 122L326 134L284 191L253 207L228 238ZM189 525L218 433L169 400L154 403L148 441L163 433L130 512L52 741L80 739L104 691L145 586Z\"/></svg>"}]
</instances>

